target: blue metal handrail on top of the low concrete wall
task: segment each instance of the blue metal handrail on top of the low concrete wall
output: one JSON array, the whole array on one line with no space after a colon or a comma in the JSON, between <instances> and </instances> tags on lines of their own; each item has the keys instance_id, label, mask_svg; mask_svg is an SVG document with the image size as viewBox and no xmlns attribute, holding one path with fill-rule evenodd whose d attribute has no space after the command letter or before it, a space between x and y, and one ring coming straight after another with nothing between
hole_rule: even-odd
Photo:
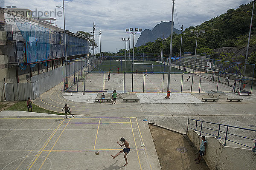
<instances>
[{"instance_id":1,"label":"blue metal handrail on top of the low concrete wall","mask_svg":"<svg viewBox=\"0 0 256 170\"><path fill-rule=\"evenodd\" d=\"M189 120L190 120L190 121L195 121L195 125L192 124L192 123L190 123ZM201 123L201 125L198 125L198 123ZM212 128L209 128L209 127L204 127L204 126L203 126L203 123L209 123L209 124L213 124L213 125L218 125L218 130L212 129ZM189 125L194 125L195 128L189 127ZM226 127L226 132L220 130L220 129L221 129L221 126L225 126L225 127ZM224 139L224 144L223 144L224 146L226 146L227 141L230 141L230 142L233 142L233 143L236 143L236 144L243 145L243 146L245 146L245 147L249 147L249 148L252 149L253 152L256 152L256 139L251 139L251 138L248 138L248 137L245 137L245 136L239 136L239 135L232 134L232 133L229 133L229 132L228 132L228 129L229 129L229 128L236 128L236 129L248 130L248 131L256 132L256 130L254 130L254 129L248 129L248 128L244 128L244 127L236 127L236 126L230 126L230 125L224 125L224 124L220 124L220 123L213 123L213 122L207 122L207 121L202 121L202 120L190 119L190 118L189 118L189 119L188 119L188 123L187 123L187 130L193 129L193 130L195 130L195 131L199 131L199 130L197 130L197 127L200 127L200 136L201 136L202 133L205 133L205 134L208 134L208 135L210 135L210 136L215 136L217 139L220 139L220 138L221 138L221 137L219 136L219 135L220 135L220 132L221 132L221 133L225 133L225 138L221 138L221 139ZM206 133L206 132L202 131L203 128L204 128L204 129L208 129L208 130L213 130L213 131L215 131L215 132L217 131L217 132L218 132L218 135L216 136L216 135L214 135L214 134L210 134L208 131L207 131L207 133ZM245 144L241 144L241 143L235 142L234 140L227 139L228 135L233 135L233 136L237 136L237 137L240 137L240 138L243 138L243 139L250 139L250 140L253 140L253 141L255 141L254 147L250 147L250 146L247 146L247 145L245 145Z\"/></svg>"}]
</instances>

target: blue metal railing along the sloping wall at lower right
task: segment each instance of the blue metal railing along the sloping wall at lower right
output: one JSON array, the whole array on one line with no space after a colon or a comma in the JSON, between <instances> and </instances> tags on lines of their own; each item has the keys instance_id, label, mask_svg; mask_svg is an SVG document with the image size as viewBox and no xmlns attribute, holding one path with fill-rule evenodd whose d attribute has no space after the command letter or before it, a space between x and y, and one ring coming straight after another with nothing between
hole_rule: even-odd
<instances>
[{"instance_id":1,"label":"blue metal railing along the sloping wall at lower right","mask_svg":"<svg viewBox=\"0 0 256 170\"><path fill-rule=\"evenodd\" d=\"M193 124L193 123L195 124ZM204 126L204 124L210 124L210 125L218 125L218 130L216 129L212 129L212 128L209 128ZM193 127L189 127L189 125L193 125ZM222 131L221 128L225 128L225 131ZM200 130L198 130L198 128ZM247 129L247 128L243 128L243 127L236 127L236 126L230 126L230 125L223 125L223 124L219 124L219 123L212 123L212 122L206 122L206 121L202 121L202 120L197 120L197 119L188 119L188 124L187 124L187 130L189 129L192 129L192 130L195 130L195 131L200 131L200 136L202 133L205 133L205 134L208 134L210 136L215 136L217 139L224 139L224 146L227 146L227 141L229 142L233 142L233 143L236 143L236 144L239 144L239 145L242 145L242 146L245 146L245 147L249 147L252 149L253 152L256 152L256 139L251 139L251 138L248 138L248 137L245 137L245 136L240 136L240 135L237 135L237 134L233 134L233 133L229 133L229 129L230 128L234 128L234 129L240 129L240 130L247 130L247 131L251 131L251 132L256 132L256 130L253 130L253 129ZM206 132L206 130L209 130L211 131L211 133L209 132ZM217 135L214 134L217 133ZM224 138L220 137L220 133L223 133L224 134ZM235 142L234 140L230 140L228 139L229 136L235 136L235 137L240 137L242 139L246 139L246 140L252 140L255 142L254 144L254 147L250 147L246 144L242 144L242 143L239 143L239 142Z\"/></svg>"}]
</instances>

